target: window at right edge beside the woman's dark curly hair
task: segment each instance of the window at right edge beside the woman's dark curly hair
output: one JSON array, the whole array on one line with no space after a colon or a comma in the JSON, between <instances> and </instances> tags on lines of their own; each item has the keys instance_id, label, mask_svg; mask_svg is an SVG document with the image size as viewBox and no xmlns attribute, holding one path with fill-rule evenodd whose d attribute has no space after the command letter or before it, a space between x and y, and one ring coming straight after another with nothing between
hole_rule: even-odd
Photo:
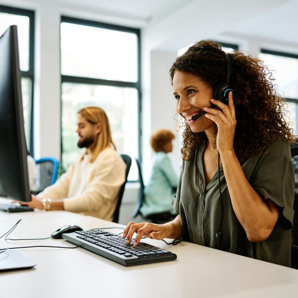
<instances>
[{"instance_id":1,"label":"window at right edge beside the woman's dark curly hair","mask_svg":"<svg viewBox=\"0 0 298 298\"><path fill-rule=\"evenodd\" d=\"M298 55L261 50L259 57L273 70L278 92L287 100L287 117L298 132Z\"/></svg>"}]
</instances>

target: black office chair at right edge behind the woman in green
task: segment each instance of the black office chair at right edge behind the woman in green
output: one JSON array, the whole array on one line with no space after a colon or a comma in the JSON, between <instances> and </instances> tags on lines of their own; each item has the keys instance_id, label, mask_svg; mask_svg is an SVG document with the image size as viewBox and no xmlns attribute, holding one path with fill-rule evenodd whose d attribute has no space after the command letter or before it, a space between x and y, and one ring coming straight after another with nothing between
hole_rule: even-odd
<instances>
[{"instance_id":1,"label":"black office chair at right edge behind the woman in green","mask_svg":"<svg viewBox=\"0 0 298 298\"><path fill-rule=\"evenodd\" d=\"M298 269L298 144L291 144L291 155L295 173L294 220L291 231L292 268Z\"/></svg>"}]
</instances>

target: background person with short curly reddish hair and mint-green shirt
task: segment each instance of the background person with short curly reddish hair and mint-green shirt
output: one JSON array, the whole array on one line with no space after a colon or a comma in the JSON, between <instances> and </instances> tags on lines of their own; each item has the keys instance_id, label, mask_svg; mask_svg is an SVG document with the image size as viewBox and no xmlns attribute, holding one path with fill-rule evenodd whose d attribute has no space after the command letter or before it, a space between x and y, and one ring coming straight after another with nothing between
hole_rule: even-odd
<instances>
[{"instance_id":1,"label":"background person with short curly reddish hair and mint-green shirt","mask_svg":"<svg viewBox=\"0 0 298 298\"><path fill-rule=\"evenodd\" d=\"M149 183L146 185L145 200L141 214L153 223L165 223L175 218L173 197L176 193L178 177L167 153L173 149L175 135L168 129L158 129L150 137L154 151Z\"/></svg>"}]
</instances>

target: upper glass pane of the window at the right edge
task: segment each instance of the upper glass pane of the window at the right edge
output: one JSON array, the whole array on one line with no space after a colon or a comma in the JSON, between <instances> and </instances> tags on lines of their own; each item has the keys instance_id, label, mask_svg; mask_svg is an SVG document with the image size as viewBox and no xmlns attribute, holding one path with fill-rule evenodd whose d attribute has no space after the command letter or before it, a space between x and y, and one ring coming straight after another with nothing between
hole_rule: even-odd
<instances>
[{"instance_id":1,"label":"upper glass pane of the window at the right edge","mask_svg":"<svg viewBox=\"0 0 298 298\"><path fill-rule=\"evenodd\" d=\"M279 93L283 97L298 98L298 59L263 53L259 57L274 70Z\"/></svg>"}]
</instances>

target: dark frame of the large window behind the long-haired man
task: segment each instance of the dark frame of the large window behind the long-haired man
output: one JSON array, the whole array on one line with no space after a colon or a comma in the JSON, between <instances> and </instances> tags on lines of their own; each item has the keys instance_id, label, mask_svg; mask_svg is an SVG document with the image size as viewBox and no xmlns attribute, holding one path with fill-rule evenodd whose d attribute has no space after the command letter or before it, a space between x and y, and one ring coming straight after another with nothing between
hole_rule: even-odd
<instances>
[{"instance_id":1,"label":"dark frame of the large window behind the long-haired man","mask_svg":"<svg viewBox=\"0 0 298 298\"><path fill-rule=\"evenodd\" d=\"M74 18L62 15L61 23L67 22L76 25L90 26L102 29L117 30L122 32L135 33L137 35L137 82L130 81L118 81L118 80L107 80L100 78L92 77L83 77L83 76L73 76L73 75L64 75L61 73L61 85L60 85L60 131L61 131L61 140L60 140L60 160L62 160L63 153L63 144L62 144L62 84L63 83L81 83L81 84L90 84L90 85L102 85L102 86L114 86L114 87L133 87L137 89L138 93L138 158L142 161L142 100L141 100L141 30L138 28L125 27L115 24L102 23L93 20L86 20L80 18ZM60 30L61 32L61 30ZM60 39L61 40L61 39ZM61 55L61 44L60 44L60 55ZM61 61L60 61L61 65ZM129 180L127 182L133 183L138 182L138 180Z\"/></svg>"}]
</instances>

